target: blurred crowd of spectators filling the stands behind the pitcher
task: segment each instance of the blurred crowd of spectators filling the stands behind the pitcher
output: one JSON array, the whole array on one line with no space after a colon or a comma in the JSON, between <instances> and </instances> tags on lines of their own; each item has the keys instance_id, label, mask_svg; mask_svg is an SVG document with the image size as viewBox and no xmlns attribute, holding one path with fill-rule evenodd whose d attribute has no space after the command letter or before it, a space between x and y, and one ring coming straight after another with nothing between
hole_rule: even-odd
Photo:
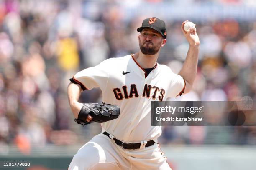
<instances>
[{"instance_id":1,"label":"blurred crowd of spectators filling the stands behind the pitcher","mask_svg":"<svg viewBox=\"0 0 256 170\"><path fill-rule=\"evenodd\" d=\"M203 10L211 5L211 12ZM176 73L188 50L181 23L197 24L195 85L169 100L256 100L256 15L250 13L255 7L254 0L0 0L0 153L9 144L24 154L31 146L82 144L100 133L99 124L74 122L69 78L107 58L137 52L136 28L148 17L166 22L167 44L158 62ZM84 91L80 101L101 102L100 89ZM254 126L162 129L162 144L256 145Z\"/></svg>"}]
</instances>

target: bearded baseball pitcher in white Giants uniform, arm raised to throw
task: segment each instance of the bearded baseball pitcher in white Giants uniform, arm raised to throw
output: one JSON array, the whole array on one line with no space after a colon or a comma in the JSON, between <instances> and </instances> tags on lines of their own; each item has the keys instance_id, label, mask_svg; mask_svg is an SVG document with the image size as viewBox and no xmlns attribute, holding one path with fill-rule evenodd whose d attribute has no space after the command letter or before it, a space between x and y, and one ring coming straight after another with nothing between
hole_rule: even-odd
<instances>
[{"instance_id":1,"label":"bearded baseball pitcher in white Giants uniform, arm raised to throw","mask_svg":"<svg viewBox=\"0 0 256 170\"><path fill-rule=\"evenodd\" d=\"M171 170L157 143L161 126L151 126L151 101L177 97L192 88L200 42L195 27L184 30L186 22L181 30L189 50L178 75L156 62L167 30L163 20L152 17L137 29L137 53L107 59L70 79L74 120L82 125L99 122L102 133L78 150L69 170ZM79 103L82 90L94 87L100 87L102 103Z\"/></svg>"}]
</instances>

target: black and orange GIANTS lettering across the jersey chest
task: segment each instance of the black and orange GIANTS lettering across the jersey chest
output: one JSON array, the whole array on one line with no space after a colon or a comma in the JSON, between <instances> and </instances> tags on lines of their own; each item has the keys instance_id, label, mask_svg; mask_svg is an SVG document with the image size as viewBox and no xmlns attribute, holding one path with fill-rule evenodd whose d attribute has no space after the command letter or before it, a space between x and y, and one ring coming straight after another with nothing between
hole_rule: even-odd
<instances>
[{"instance_id":1,"label":"black and orange GIANTS lettering across the jersey chest","mask_svg":"<svg viewBox=\"0 0 256 170\"><path fill-rule=\"evenodd\" d=\"M151 90L154 90L152 96L150 96ZM123 98L129 99L129 98L132 98L133 96L134 97L138 97L139 96L138 95L138 90L137 90L135 84L131 84L130 93L128 93L126 85L124 85L122 87L122 90L120 88L114 88L113 92L114 92L115 98L117 100L123 100ZM143 97L147 97L147 98L152 97L153 100L156 100L156 96L158 96L158 99L160 101L163 101L164 94L165 94L164 89L162 89L162 88L160 89L159 87L156 87L156 86L152 87L151 85L145 84L142 96Z\"/></svg>"}]
</instances>

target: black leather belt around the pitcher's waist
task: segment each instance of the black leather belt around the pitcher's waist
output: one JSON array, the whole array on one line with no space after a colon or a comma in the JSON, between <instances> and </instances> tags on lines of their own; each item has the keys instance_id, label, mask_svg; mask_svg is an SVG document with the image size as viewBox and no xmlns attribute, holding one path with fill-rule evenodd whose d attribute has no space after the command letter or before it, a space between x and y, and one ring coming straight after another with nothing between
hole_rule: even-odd
<instances>
[{"instance_id":1,"label":"black leather belt around the pitcher's waist","mask_svg":"<svg viewBox=\"0 0 256 170\"><path fill-rule=\"evenodd\" d=\"M106 131L103 132L103 134L110 138L110 134L107 133ZM121 140L118 140L116 138L113 138L113 140L115 140L115 143L118 144L119 146L123 147L124 149L139 149L139 148L141 148L141 143L124 143ZM155 143L154 140L148 140L145 147L152 146L152 145L154 145L154 143Z\"/></svg>"}]
</instances>

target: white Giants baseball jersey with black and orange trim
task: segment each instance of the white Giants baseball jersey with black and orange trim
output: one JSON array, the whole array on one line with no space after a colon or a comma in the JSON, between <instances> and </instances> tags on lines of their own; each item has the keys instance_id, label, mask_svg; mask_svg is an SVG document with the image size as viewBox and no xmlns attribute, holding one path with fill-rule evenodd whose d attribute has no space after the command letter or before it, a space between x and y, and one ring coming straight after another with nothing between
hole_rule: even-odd
<instances>
[{"instance_id":1,"label":"white Giants baseball jersey with black and orange trim","mask_svg":"<svg viewBox=\"0 0 256 170\"><path fill-rule=\"evenodd\" d=\"M159 137L161 126L151 126L151 101L177 97L185 88L184 79L166 65L157 63L146 75L132 55L107 59L78 72L73 80L83 89L100 87L103 102L120 106L119 117L101 126L125 142Z\"/></svg>"}]
</instances>

